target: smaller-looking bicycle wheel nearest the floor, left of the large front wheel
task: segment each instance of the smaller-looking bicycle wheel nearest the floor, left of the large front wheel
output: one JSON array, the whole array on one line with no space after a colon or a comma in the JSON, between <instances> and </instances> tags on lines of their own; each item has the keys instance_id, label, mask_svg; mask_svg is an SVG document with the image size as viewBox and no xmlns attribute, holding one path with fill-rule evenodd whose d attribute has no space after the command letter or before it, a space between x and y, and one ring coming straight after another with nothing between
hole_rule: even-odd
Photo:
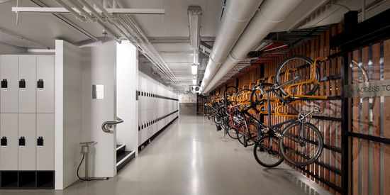
<instances>
[{"instance_id":1,"label":"smaller-looking bicycle wheel nearest the floor, left of the large front wheel","mask_svg":"<svg viewBox=\"0 0 390 195\"><path fill-rule=\"evenodd\" d=\"M253 147L255 160L263 167L277 167L283 162L279 150L279 140L274 135L264 135Z\"/></svg>"}]
</instances>

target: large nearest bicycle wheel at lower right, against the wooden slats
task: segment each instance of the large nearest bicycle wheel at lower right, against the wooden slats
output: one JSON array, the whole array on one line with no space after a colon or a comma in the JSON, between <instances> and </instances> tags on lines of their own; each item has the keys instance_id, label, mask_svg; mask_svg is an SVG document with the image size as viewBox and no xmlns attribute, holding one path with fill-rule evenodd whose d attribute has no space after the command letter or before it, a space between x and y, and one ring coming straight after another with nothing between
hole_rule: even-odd
<instances>
[{"instance_id":1,"label":"large nearest bicycle wheel at lower right, against the wooden slats","mask_svg":"<svg viewBox=\"0 0 390 195\"><path fill-rule=\"evenodd\" d=\"M279 147L285 160L298 167L303 167L310 165L320 157L323 150L323 138L313 124L296 122L283 130L279 138Z\"/></svg>"}]
</instances>

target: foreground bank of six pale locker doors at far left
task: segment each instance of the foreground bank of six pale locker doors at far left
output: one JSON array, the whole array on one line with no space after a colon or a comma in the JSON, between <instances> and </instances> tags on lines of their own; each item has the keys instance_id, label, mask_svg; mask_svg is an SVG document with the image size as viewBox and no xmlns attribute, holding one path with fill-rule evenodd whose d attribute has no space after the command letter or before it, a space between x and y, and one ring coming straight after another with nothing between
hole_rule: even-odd
<instances>
[{"instance_id":1,"label":"foreground bank of six pale locker doors at far left","mask_svg":"<svg viewBox=\"0 0 390 195\"><path fill-rule=\"evenodd\" d=\"M0 56L0 170L54 169L54 63Z\"/></svg>"}]
</instances>

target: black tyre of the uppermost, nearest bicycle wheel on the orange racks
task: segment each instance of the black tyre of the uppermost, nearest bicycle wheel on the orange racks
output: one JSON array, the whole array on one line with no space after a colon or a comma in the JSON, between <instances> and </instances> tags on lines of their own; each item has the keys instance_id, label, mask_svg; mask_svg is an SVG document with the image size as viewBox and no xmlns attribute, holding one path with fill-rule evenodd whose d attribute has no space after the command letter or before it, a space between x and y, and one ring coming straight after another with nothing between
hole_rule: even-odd
<instances>
[{"instance_id":1,"label":"black tyre of the uppermost, nearest bicycle wheel on the orange racks","mask_svg":"<svg viewBox=\"0 0 390 195\"><path fill-rule=\"evenodd\" d=\"M280 79L282 74L284 73L284 72L282 72L283 68L291 60L303 60L303 61L307 62L310 66L313 66L313 60L311 60L309 57L306 57L306 56L303 56L303 55L294 55L294 56L291 56L291 57L287 57L282 62L280 62L279 66L276 69L275 83L278 84L279 86L283 85L283 83L284 83ZM320 81L320 71L318 69L316 69L316 81L318 81L318 82ZM305 93L305 94L296 94L296 95L307 95L307 96L313 95L317 91L317 89L319 87L320 87L319 84L313 84L313 87L311 87L311 89L307 90L308 91L307 93ZM287 92L284 90L284 87L280 87L279 90L282 92L282 94L284 96L287 95Z\"/></svg>"}]
</instances>

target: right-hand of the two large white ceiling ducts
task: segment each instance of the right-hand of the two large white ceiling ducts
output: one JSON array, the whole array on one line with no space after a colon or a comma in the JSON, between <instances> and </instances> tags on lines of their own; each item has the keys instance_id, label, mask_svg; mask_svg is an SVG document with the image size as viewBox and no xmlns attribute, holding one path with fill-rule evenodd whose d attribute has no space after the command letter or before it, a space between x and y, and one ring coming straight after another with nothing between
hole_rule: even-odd
<instances>
[{"instance_id":1,"label":"right-hand of the two large white ceiling ducts","mask_svg":"<svg viewBox=\"0 0 390 195\"><path fill-rule=\"evenodd\" d=\"M247 53L260 43L302 0L265 0L253 16L245 31L235 43L228 58L201 93L208 93L217 82L247 57Z\"/></svg>"}]
</instances>

